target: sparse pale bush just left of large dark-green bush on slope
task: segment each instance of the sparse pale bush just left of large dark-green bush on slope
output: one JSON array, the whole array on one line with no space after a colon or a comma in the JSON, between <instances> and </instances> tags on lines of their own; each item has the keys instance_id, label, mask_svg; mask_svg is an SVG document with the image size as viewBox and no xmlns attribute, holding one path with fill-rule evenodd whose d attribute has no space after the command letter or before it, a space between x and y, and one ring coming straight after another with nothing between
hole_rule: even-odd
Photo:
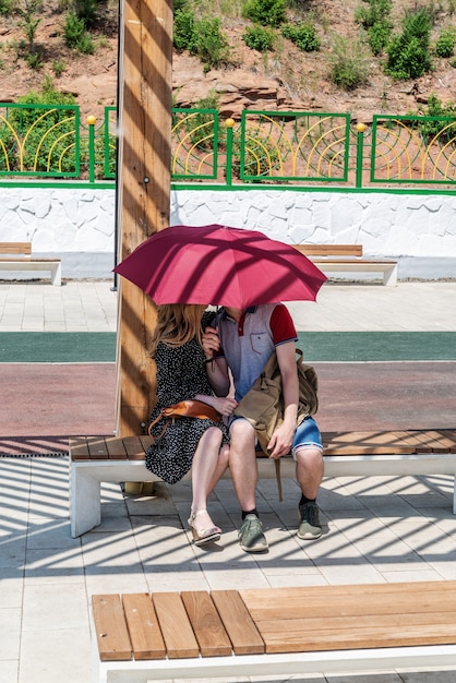
<instances>
[{"instance_id":1,"label":"sparse pale bush just left of large dark-green bush on slope","mask_svg":"<svg viewBox=\"0 0 456 683\"><path fill-rule=\"evenodd\" d=\"M329 63L329 79L344 91L352 91L368 81L369 55L360 39L335 36Z\"/></svg>"}]
</instances>

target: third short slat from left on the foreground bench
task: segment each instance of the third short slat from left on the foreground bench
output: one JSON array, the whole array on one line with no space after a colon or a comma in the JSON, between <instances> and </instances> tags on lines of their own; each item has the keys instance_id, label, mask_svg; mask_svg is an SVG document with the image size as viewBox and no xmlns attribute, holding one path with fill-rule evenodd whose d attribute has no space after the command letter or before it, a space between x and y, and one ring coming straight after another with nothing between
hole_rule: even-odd
<instances>
[{"instance_id":1,"label":"third short slat from left on the foreground bench","mask_svg":"<svg viewBox=\"0 0 456 683\"><path fill-rule=\"evenodd\" d=\"M170 659L199 657L200 648L179 594L154 592L152 601L168 657Z\"/></svg>"}]
</instances>

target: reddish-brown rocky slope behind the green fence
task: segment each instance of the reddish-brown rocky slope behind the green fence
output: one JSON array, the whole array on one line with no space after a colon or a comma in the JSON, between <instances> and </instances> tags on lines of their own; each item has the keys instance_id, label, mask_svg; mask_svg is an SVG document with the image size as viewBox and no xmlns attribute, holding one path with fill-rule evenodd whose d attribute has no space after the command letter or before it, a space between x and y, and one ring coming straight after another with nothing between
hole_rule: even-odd
<instances>
[{"instance_id":1,"label":"reddish-brown rocky slope behind the green fence","mask_svg":"<svg viewBox=\"0 0 456 683\"><path fill-rule=\"evenodd\" d=\"M304 53L291 43L281 40L275 53L263 56L250 50L241 36L245 22L240 17L224 19L223 29L230 41L230 65L204 73L197 58L175 55L172 64L173 100L177 106L194 106L202 97L217 94L219 109L225 116L238 116L245 107L261 109L303 109L328 112L350 112L353 119L369 121L372 113L406 113L417 111L430 94L443 103L456 98L456 70L448 60L436 59L434 70L417 81L394 82L383 73L381 60L372 57L369 82L350 93L338 89L328 79L328 55L335 34L356 36L353 22L359 0L308 0L315 11L315 22L322 40L320 52ZM395 0L394 13L399 25L405 9L416 0ZM445 3L437 8L435 33L456 19ZM292 12L292 10L291 10ZM0 19L1 99L15 101L31 89L40 89L46 74L55 86L73 93L82 118L103 116L104 107L117 100L117 12L107 5L99 21L94 41L94 55L79 55L64 47L62 14L56 0L45 0L40 14L35 49L43 57L39 70L31 69L24 59L26 44L19 17ZM64 64L56 75L52 64Z\"/></svg>"}]
</instances>

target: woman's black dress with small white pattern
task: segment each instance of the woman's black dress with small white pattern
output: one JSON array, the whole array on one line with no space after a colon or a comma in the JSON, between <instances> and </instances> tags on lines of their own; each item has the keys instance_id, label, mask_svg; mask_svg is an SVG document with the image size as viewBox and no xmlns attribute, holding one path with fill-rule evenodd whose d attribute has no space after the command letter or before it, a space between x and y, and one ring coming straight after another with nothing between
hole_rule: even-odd
<instances>
[{"instance_id":1,"label":"woman's black dress with small white pattern","mask_svg":"<svg viewBox=\"0 0 456 683\"><path fill-rule=\"evenodd\" d=\"M153 421L161 408L180 400L194 398L196 394L212 396L207 379L205 356L196 339L178 348L159 343L155 354L157 366L157 405L151 415ZM158 436L164 420L152 431ZM176 483L192 466L193 455L201 436L209 427L223 432L223 443L228 443L228 430L221 422L199 418L179 418L168 426L164 436L146 453L146 467L167 483Z\"/></svg>"}]
</instances>

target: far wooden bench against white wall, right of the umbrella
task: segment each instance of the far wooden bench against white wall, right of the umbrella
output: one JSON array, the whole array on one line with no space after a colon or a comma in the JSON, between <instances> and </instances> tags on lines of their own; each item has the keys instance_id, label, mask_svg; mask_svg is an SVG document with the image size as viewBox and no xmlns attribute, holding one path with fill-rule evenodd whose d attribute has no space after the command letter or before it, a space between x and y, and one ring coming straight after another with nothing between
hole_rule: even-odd
<instances>
[{"instance_id":1,"label":"far wooden bench against white wall, right of the umbrella","mask_svg":"<svg viewBox=\"0 0 456 683\"><path fill-rule=\"evenodd\" d=\"M397 285L397 261L367 259L361 244L293 244L326 273L383 273L383 284Z\"/></svg>"}]
</instances>

